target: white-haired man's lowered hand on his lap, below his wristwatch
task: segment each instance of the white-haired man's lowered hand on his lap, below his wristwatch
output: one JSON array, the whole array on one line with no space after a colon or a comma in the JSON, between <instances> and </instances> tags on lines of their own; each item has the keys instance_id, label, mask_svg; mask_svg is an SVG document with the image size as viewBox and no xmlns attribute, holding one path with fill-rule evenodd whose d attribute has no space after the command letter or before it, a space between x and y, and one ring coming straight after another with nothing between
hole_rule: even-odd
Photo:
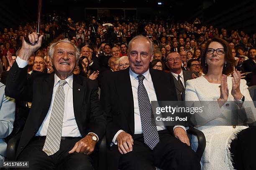
<instances>
[{"instance_id":1,"label":"white-haired man's lowered hand on his lap, below his wristwatch","mask_svg":"<svg viewBox=\"0 0 256 170\"><path fill-rule=\"evenodd\" d=\"M90 155L94 151L95 144L96 142L92 140L92 137L87 135L74 145L74 148L69 151L69 154L76 152Z\"/></svg>"}]
</instances>

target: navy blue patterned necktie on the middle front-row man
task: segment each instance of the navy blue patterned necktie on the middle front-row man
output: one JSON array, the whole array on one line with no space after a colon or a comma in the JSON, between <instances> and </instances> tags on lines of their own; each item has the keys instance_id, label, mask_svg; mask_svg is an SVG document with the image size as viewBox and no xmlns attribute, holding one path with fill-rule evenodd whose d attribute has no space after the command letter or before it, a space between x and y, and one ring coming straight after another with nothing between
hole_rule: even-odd
<instances>
[{"instance_id":1,"label":"navy blue patterned necktie on the middle front-row man","mask_svg":"<svg viewBox=\"0 0 256 170\"><path fill-rule=\"evenodd\" d=\"M148 92L143 85L144 78L144 75L138 75L138 105L141 115L144 143L148 145L150 149L154 149L159 143L159 135Z\"/></svg>"}]
</instances>

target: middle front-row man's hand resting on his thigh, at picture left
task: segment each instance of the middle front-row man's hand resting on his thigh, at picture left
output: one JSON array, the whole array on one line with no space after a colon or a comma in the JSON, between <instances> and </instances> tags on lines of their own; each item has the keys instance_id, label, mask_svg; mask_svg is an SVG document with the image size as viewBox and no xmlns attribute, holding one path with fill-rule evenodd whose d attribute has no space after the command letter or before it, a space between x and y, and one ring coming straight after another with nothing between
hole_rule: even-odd
<instances>
[{"instance_id":1,"label":"middle front-row man's hand resting on his thigh, at picture left","mask_svg":"<svg viewBox=\"0 0 256 170\"><path fill-rule=\"evenodd\" d=\"M133 137L129 133L119 133L116 140L118 142L118 150L121 154L133 151Z\"/></svg>"}]
</instances>

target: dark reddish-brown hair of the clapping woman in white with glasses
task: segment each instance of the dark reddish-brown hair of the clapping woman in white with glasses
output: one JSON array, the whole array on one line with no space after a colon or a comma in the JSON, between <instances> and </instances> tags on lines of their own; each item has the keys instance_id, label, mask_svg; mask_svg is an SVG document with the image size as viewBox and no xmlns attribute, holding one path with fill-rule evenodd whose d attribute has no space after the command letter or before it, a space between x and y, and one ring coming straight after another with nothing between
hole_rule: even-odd
<instances>
[{"instance_id":1,"label":"dark reddish-brown hair of the clapping woman in white with glasses","mask_svg":"<svg viewBox=\"0 0 256 170\"><path fill-rule=\"evenodd\" d=\"M211 41L208 41L206 43L205 50L201 54L201 66L202 66L203 72L205 74L208 72L208 65L207 64L205 65L205 58L206 58L206 54L207 54L206 53L207 48L209 47L211 42L219 42L224 47L224 51L225 51L224 59L225 59L225 62L227 62L227 63L225 64L225 66L223 66L222 74L227 75L227 74L233 72L236 60L232 57L232 50L231 50L228 42L226 42L225 40L223 40L221 38L212 38Z\"/></svg>"}]
</instances>

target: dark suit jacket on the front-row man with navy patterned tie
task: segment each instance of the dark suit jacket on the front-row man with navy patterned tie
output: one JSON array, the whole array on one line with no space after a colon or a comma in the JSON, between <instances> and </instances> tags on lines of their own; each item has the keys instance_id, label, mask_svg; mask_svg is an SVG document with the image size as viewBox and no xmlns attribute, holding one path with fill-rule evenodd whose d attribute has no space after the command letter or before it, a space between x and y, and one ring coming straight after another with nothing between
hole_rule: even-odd
<instances>
[{"instance_id":1,"label":"dark suit jacket on the front-row man with navy patterned tie","mask_svg":"<svg viewBox=\"0 0 256 170\"><path fill-rule=\"evenodd\" d=\"M170 74L160 70L149 70L154 84L157 100L177 101L174 81ZM118 130L124 130L134 138L134 104L129 68L103 77L100 100L107 113L107 145L110 146ZM173 134L173 126L166 126ZM120 153L117 145L108 148L108 167L117 169Z\"/></svg>"}]
</instances>

